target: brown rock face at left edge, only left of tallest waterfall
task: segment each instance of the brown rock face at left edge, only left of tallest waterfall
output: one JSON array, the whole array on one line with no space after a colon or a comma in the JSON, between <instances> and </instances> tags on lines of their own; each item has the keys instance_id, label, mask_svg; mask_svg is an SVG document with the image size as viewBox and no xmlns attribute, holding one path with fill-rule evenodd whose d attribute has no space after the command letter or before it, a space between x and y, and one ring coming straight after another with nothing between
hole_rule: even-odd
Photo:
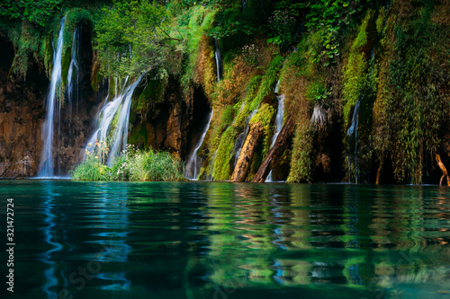
<instances>
[{"instance_id":1,"label":"brown rock face at left edge, only left of tallest waterfall","mask_svg":"<svg viewBox=\"0 0 450 299\"><path fill-rule=\"evenodd\" d=\"M39 166L48 80L35 62L24 79L8 80L13 44L0 37L0 48L0 176L30 176Z\"/></svg>"}]
</instances>

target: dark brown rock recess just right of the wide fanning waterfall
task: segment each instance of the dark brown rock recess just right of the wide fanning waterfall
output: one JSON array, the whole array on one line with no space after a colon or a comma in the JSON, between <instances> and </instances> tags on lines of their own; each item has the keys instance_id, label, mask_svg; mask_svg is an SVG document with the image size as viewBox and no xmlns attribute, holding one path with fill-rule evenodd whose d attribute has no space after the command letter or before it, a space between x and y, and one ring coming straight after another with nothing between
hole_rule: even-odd
<instances>
[{"instance_id":1,"label":"dark brown rock recess just right of the wide fanning waterfall","mask_svg":"<svg viewBox=\"0 0 450 299\"><path fill-rule=\"evenodd\" d=\"M202 89L196 88L192 96L186 96L181 84L170 78L160 98L151 95L145 102L146 109L131 111L135 115L130 117L129 143L165 150L187 160L190 149L202 135L204 115L210 109Z\"/></svg>"}]
</instances>

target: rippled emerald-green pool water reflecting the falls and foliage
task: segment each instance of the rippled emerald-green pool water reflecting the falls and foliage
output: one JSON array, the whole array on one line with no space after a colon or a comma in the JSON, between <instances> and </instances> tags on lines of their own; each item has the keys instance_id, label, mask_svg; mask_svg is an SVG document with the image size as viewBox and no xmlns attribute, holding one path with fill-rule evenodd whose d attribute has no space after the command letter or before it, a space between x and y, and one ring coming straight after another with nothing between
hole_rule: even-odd
<instances>
[{"instance_id":1,"label":"rippled emerald-green pool water reflecting the falls and foliage","mask_svg":"<svg viewBox=\"0 0 450 299\"><path fill-rule=\"evenodd\" d=\"M447 188L0 180L0 198L11 298L450 297Z\"/></svg>"}]
</instances>

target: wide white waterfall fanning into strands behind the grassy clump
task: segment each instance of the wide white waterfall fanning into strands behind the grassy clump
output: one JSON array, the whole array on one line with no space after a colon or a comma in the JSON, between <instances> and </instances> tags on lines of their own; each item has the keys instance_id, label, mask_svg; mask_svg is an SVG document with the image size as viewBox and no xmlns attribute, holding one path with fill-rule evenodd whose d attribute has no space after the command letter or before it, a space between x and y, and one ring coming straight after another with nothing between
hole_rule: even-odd
<instances>
[{"instance_id":1,"label":"wide white waterfall fanning into strands behind the grassy clump","mask_svg":"<svg viewBox=\"0 0 450 299\"><path fill-rule=\"evenodd\" d=\"M107 156L108 165L110 166L114 158L119 156L121 150L125 150L126 148L130 122L131 97L141 79L142 76L133 84L126 86L128 82L127 77L120 94L116 94L112 101L108 101L109 95L106 97L97 119L97 128L87 143L86 151L90 153L94 152L95 145L98 146L100 142L106 142L110 145L111 150ZM114 120L117 120L117 124L115 128L112 128L112 122L115 122ZM104 163L103 156L106 153L102 151L96 154L102 157L102 162Z\"/></svg>"}]
</instances>

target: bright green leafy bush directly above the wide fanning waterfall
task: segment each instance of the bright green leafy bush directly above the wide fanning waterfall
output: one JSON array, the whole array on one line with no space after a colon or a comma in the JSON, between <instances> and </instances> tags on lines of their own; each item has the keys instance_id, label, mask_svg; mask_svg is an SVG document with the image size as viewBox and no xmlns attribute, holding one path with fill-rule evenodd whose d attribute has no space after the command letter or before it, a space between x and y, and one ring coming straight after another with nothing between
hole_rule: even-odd
<instances>
[{"instance_id":1,"label":"bright green leafy bush directly above the wide fanning waterfall","mask_svg":"<svg viewBox=\"0 0 450 299\"><path fill-rule=\"evenodd\" d=\"M103 75L136 77L148 71L166 75L170 41L166 9L148 1L115 1L96 23L96 49Z\"/></svg>"}]
</instances>

